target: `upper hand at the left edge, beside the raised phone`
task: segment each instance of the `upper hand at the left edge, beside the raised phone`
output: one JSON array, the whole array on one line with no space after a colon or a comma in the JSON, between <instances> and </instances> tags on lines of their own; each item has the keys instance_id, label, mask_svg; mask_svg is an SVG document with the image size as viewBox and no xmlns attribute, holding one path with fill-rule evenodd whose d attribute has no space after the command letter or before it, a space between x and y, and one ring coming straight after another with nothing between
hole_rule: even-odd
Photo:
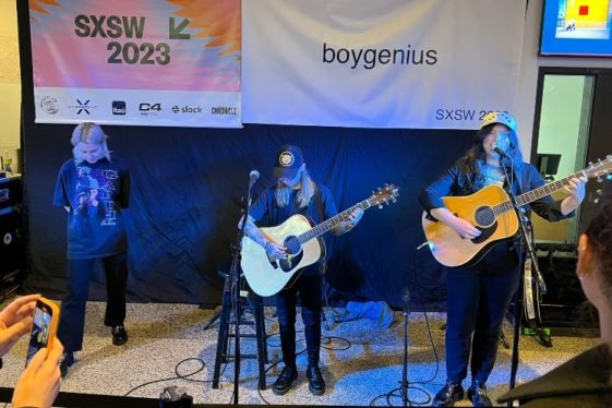
<instances>
[{"instance_id":1,"label":"upper hand at the left edge, beside the raised phone","mask_svg":"<svg viewBox=\"0 0 612 408\"><path fill-rule=\"evenodd\" d=\"M36 300L40 295L16 298L0 312L0 357L32 328Z\"/></svg>"}]
</instances>

